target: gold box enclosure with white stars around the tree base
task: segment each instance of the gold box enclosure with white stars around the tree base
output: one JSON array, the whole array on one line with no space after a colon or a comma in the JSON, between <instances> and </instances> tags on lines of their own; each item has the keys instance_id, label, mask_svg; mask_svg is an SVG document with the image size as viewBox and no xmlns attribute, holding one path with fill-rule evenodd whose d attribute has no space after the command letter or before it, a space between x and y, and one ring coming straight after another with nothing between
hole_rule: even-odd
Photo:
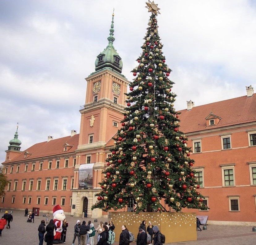
<instances>
[{"instance_id":1,"label":"gold box enclosure with white stars around the tree base","mask_svg":"<svg viewBox=\"0 0 256 245\"><path fill-rule=\"evenodd\" d=\"M149 222L159 227L160 232L165 235L165 243L194 241L197 239L195 213L141 212L136 214L134 212L111 212L111 219L116 227L116 242L119 241L122 225L126 225L136 239L139 226L143 220L146 221L146 228Z\"/></svg>"}]
</instances>

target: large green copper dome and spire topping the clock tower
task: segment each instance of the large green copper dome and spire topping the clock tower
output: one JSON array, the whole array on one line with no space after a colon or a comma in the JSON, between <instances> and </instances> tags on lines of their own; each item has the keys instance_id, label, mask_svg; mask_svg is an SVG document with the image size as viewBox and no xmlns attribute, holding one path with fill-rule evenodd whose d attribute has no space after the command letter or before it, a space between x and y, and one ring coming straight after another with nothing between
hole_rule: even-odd
<instances>
[{"instance_id":1,"label":"large green copper dome and spire topping the clock tower","mask_svg":"<svg viewBox=\"0 0 256 245\"><path fill-rule=\"evenodd\" d=\"M123 62L113 46L114 38L114 13L112 14L111 28L109 29L108 46L97 56L95 60L95 70L98 71L105 67L113 68L115 71L121 73Z\"/></svg>"}]
</instances>

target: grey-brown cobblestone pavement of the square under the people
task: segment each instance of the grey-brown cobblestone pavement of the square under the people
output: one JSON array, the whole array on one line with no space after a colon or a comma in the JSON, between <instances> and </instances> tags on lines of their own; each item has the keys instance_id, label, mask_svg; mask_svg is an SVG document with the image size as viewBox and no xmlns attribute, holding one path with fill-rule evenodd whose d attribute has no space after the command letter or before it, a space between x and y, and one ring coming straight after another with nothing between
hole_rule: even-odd
<instances>
[{"instance_id":1,"label":"grey-brown cobblestone pavement of the square under the people","mask_svg":"<svg viewBox=\"0 0 256 245\"><path fill-rule=\"evenodd\" d=\"M6 210L0 212L0 217L3 216ZM8 210L10 211L10 210ZM41 223L42 213L39 217L35 217L34 223L28 223L27 217L24 217L23 211L14 210L13 211L13 222L11 222L11 229L4 229L2 231L2 237L0 237L1 245L36 245L39 243L38 231L37 228ZM51 214L50 214L51 215ZM94 218L74 218L73 216L66 215L67 222L69 227L67 228L67 237L66 244L71 245L74 237L74 226L79 219L82 223L83 220L86 223L91 220L94 221ZM107 221L98 219L98 221ZM99 222L93 222L94 226L97 227ZM117 239L121 231L115 230ZM198 238L197 241L191 242L179 242L179 243L169 243L171 245L176 244L186 244L186 245L255 245L256 244L256 232L252 231L251 226L217 226L209 225L207 230L202 230L197 232ZM97 244L95 236L95 245ZM46 243L44 243L46 244ZM117 245L118 243L114 243ZM135 244L135 243L131 243ZM167 243L166 243L167 244ZM76 239L75 245L78 245L78 240ZM82 243L81 243L82 245Z\"/></svg>"}]
</instances>

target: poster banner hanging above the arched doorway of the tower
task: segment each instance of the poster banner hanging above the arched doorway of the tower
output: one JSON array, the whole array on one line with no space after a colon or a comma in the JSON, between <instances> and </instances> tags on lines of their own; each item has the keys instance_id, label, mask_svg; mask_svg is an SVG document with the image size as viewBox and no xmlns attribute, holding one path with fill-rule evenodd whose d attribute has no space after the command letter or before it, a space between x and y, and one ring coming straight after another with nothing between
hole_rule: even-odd
<instances>
[{"instance_id":1,"label":"poster banner hanging above the arched doorway of the tower","mask_svg":"<svg viewBox=\"0 0 256 245\"><path fill-rule=\"evenodd\" d=\"M92 188L92 169L94 163L81 164L79 167L79 188Z\"/></svg>"}]
</instances>

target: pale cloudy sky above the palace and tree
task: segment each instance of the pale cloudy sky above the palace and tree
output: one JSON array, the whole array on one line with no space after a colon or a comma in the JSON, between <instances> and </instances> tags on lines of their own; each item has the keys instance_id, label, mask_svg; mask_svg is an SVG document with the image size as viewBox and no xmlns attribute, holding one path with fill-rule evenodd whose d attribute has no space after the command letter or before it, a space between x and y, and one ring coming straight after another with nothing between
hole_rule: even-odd
<instances>
[{"instance_id":1,"label":"pale cloudy sky above the palace and tree","mask_svg":"<svg viewBox=\"0 0 256 245\"><path fill-rule=\"evenodd\" d=\"M173 70L175 109L256 92L256 1L155 0L166 64ZM138 65L150 13L145 0L0 1L0 162L19 122L24 151L79 132L79 107L96 56L114 47L122 74Z\"/></svg>"}]
</instances>

